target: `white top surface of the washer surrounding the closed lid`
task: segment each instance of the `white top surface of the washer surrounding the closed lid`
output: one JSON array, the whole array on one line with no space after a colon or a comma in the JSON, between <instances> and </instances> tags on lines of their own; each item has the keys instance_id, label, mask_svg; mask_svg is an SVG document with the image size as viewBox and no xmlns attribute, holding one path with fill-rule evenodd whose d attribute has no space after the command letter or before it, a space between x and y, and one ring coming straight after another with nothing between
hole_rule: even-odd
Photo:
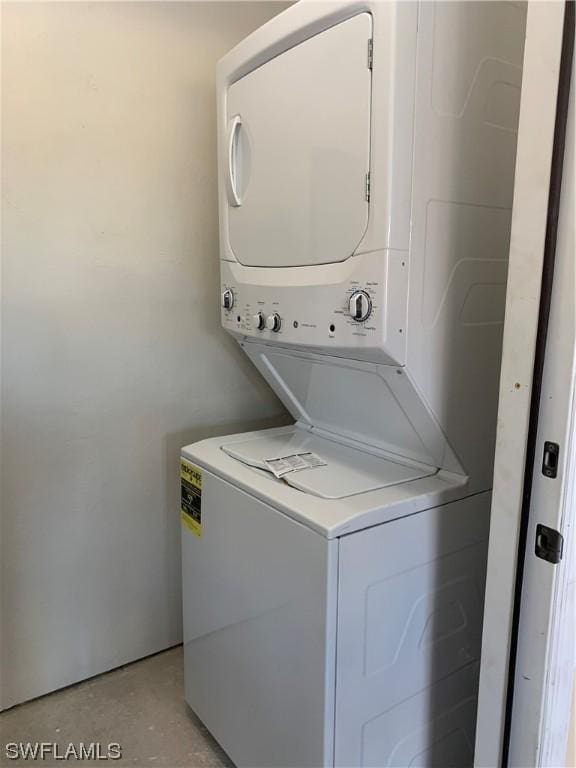
<instances>
[{"instance_id":1,"label":"white top surface of the washer surrounding the closed lid","mask_svg":"<svg viewBox=\"0 0 576 768\"><path fill-rule=\"evenodd\" d=\"M256 450L257 445L263 446L264 442L258 444L257 441L264 435L269 441L268 445L282 444L289 446L291 450L296 445L309 446L310 444L305 442L305 436L309 434L305 429L291 426L227 437L214 437L184 447L182 456L327 538L335 538L414 514L461 498L464 495L466 478L441 471L436 474L416 476L412 480L405 479L374 490L358 492L351 496L322 498L311 492L302 492L283 479L277 479L270 472L260 469L258 466L243 463L230 455L230 451L234 450L239 450L244 454L247 443L254 443L254 450ZM278 438L281 442L275 442ZM293 440L296 442L292 442ZM300 442L300 440L304 442ZM323 441L322 451L328 442L330 441ZM238 449L238 444L243 444L244 448ZM226 451L222 450L223 446L226 446ZM317 453L322 457L320 449ZM360 453L364 455L362 451ZM330 458L332 458L332 454ZM370 458L377 459L377 457ZM255 457L254 463L259 460L258 457ZM358 463L360 461L358 459ZM393 464L394 462L386 462L386 465L388 463ZM373 469L375 465L370 462L369 466ZM410 467L404 468L411 469ZM311 470L308 473L309 477L312 477L314 471L319 470ZM386 466L386 471L391 472L393 470ZM294 475L296 474L298 473L294 473ZM399 476L397 475L397 477ZM331 474L331 477L336 482L336 473ZM318 482L320 481L318 480ZM355 479L354 482L358 482L358 480ZM349 479L348 489L351 484L352 478ZM209 511L205 510L205 513L209 514Z\"/></svg>"}]
</instances>

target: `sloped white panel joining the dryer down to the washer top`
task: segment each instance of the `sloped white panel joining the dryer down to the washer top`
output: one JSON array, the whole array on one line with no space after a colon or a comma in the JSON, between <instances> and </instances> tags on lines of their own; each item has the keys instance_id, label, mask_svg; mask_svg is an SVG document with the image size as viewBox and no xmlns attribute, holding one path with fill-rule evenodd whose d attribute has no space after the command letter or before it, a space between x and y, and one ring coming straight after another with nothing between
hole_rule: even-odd
<instances>
[{"instance_id":1,"label":"sloped white panel joining the dryer down to the washer top","mask_svg":"<svg viewBox=\"0 0 576 768\"><path fill-rule=\"evenodd\" d=\"M466 474L404 369L245 341L286 408L316 434L392 461Z\"/></svg>"}]
</instances>

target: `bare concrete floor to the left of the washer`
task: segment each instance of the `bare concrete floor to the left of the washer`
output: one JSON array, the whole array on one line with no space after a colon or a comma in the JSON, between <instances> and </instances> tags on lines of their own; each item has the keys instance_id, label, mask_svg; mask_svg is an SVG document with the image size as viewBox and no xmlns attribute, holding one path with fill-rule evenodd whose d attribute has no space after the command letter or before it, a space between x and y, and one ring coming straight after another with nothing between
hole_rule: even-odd
<instances>
[{"instance_id":1,"label":"bare concrete floor to the left of the washer","mask_svg":"<svg viewBox=\"0 0 576 768\"><path fill-rule=\"evenodd\" d=\"M224 752L184 703L182 648L87 680L0 715L0 764L30 766L31 760L6 760L8 742L117 742L122 758L109 765L170 768L231 768ZM38 761L40 762L40 761ZM100 765L103 761L45 759L49 765Z\"/></svg>"}]
</instances>

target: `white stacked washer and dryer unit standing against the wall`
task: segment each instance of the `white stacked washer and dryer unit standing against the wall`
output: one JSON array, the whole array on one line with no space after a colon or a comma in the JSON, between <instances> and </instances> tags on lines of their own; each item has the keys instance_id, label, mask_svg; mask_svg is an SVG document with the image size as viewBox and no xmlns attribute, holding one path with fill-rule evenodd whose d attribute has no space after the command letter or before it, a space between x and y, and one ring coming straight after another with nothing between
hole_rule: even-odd
<instances>
[{"instance_id":1,"label":"white stacked washer and dryer unit standing against the wall","mask_svg":"<svg viewBox=\"0 0 576 768\"><path fill-rule=\"evenodd\" d=\"M219 64L222 324L295 419L182 451L238 766L472 763L524 13L304 1Z\"/></svg>"}]
</instances>

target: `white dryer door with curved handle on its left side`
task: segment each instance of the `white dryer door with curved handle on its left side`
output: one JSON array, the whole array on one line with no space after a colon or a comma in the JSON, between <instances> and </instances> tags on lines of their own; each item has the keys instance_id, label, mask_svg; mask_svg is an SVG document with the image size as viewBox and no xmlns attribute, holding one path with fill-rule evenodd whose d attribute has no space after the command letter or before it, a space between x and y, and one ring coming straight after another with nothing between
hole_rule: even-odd
<instances>
[{"instance_id":1,"label":"white dryer door with curved handle on its left side","mask_svg":"<svg viewBox=\"0 0 576 768\"><path fill-rule=\"evenodd\" d=\"M368 223L368 13L341 22L233 83L224 180L239 262L344 261Z\"/></svg>"}]
</instances>

